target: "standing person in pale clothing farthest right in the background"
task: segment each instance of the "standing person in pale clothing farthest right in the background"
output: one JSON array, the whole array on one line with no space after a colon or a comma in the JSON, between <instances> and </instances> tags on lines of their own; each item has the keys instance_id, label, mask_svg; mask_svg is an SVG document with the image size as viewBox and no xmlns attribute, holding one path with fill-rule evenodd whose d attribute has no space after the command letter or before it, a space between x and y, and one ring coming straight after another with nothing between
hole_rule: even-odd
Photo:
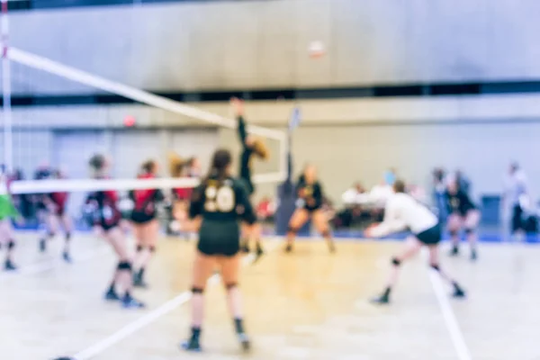
<instances>
[{"instance_id":1,"label":"standing person in pale clothing farthest right in the background","mask_svg":"<svg viewBox=\"0 0 540 360\"><path fill-rule=\"evenodd\" d=\"M502 196L502 218L505 225L505 237L508 237L508 234L511 237L525 236L525 213L530 209L531 205L527 175L525 175L517 162L513 162L509 166L509 175L507 175Z\"/></svg>"}]
</instances>

